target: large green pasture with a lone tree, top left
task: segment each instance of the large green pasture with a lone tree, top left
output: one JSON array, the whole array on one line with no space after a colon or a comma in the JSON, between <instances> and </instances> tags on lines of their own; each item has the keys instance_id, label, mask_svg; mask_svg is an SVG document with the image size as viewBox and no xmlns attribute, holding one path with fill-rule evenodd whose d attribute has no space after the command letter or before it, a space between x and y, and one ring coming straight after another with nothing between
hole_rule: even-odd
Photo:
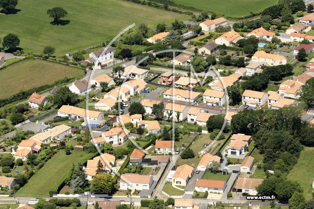
<instances>
[{"instance_id":1,"label":"large green pasture with a lone tree, top left","mask_svg":"<svg viewBox=\"0 0 314 209\"><path fill-rule=\"evenodd\" d=\"M16 34L21 40L19 47L25 52L35 54L41 54L45 46L51 45L56 48L55 55L60 56L101 44L114 38L122 29L133 23L138 25L144 22L156 26L161 22L171 24L174 19L189 18L187 15L122 0L64 0L58 1L57 6L68 11L68 16L62 19L70 23L56 26L50 24L52 18L47 15L47 9L55 6L55 1L20 0L16 6L19 12L1 15L3 27L0 37L8 33ZM88 30L83 29L83 25L88 26Z\"/></svg>"}]
</instances>

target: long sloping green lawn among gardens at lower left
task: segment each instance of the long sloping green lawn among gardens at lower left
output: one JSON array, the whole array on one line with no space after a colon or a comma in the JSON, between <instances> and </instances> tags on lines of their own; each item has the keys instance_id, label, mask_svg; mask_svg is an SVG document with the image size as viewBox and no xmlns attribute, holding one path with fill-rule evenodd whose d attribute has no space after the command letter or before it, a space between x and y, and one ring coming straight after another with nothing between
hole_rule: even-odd
<instances>
[{"instance_id":1,"label":"long sloping green lawn among gardens at lower left","mask_svg":"<svg viewBox=\"0 0 314 209\"><path fill-rule=\"evenodd\" d=\"M71 168L72 164L77 164L87 154L84 151L71 152L72 154L66 155L64 150L60 150L52 156L44 167L15 193L16 196L49 196L49 190Z\"/></svg>"}]
</instances>

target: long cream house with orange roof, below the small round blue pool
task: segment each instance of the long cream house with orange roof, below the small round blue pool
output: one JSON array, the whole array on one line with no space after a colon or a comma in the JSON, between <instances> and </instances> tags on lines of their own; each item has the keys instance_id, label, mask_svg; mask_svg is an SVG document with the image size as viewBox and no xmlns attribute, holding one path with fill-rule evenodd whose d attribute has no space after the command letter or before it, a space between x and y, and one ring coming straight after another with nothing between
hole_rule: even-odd
<instances>
[{"instance_id":1,"label":"long cream house with orange roof, below the small round blue pool","mask_svg":"<svg viewBox=\"0 0 314 209\"><path fill-rule=\"evenodd\" d=\"M273 55L266 53L265 51L257 51L252 56L253 62L265 62L267 65L285 65L287 64L287 59L283 55Z\"/></svg>"}]
</instances>

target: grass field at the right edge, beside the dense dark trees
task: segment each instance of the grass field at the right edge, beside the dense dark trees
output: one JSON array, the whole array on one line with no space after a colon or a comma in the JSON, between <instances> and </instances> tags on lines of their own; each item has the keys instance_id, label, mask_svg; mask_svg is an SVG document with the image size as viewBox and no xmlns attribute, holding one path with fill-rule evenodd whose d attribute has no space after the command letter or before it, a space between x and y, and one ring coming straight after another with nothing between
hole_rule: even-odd
<instances>
[{"instance_id":1,"label":"grass field at the right edge, beside the dense dark trees","mask_svg":"<svg viewBox=\"0 0 314 209\"><path fill-rule=\"evenodd\" d=\"M312 183L314 181L313 167L314 164L314 147L306 147L301 151L297 164L293 167L288 175L288 179L298 181L304 190L306 199L312 198Z\"/></svg>"}]
</instances>

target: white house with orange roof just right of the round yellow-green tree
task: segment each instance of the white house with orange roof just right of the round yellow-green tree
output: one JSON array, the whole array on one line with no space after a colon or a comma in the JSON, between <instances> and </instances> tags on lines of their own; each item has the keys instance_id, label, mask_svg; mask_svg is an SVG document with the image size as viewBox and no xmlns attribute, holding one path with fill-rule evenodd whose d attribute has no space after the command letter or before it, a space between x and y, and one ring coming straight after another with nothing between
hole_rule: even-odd
<instances>
[{"instance_id":1,"label":"white house with orange roof just right of the round yellow-green tree","mask_svg":"<svg viewBox=\"0 0 314 209\"><path fill-rule=\"evenodd\" d=\"M153 184L153 176L126 173L121 175L121 190L149 190Z\"/></svg>"}]
</instances>

